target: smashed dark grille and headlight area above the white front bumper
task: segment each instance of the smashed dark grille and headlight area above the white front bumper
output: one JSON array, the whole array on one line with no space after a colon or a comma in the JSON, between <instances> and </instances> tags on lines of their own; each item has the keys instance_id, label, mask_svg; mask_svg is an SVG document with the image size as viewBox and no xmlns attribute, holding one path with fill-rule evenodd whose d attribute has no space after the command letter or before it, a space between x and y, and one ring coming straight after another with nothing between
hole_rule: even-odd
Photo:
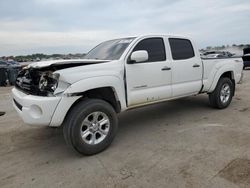
<instances>
[{"instance_id":1,"label":"smashed dark grille and headlight area above the white front bumper","mask_svg":"<svg viewBox=\"0 0 250 188\"><path fill-rule=\"evenodd\" d=\"M60 75L53 71L25 68L19 72L15 86L27 94L53 96L58 87L59 77Z\"/></svg>"}]
</instances>

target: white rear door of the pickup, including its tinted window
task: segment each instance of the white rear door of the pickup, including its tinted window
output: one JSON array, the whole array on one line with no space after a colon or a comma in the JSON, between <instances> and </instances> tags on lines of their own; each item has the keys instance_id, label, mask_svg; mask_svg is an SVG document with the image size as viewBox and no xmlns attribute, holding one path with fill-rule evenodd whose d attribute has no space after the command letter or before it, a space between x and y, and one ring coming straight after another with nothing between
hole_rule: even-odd
<instances>
[{"instance_id":1,"label":"white rear door of the pickup, including its tinted window","mask_svg":"<svg viewBox=\"0 0 250 188\"><path fill-rule=\"evenodd\" d=\"M197 94L202 87L202 62L190 40L169 38L173 97ZM196 52L197 53L197 52Z\"/></svg>"}]
</instances>

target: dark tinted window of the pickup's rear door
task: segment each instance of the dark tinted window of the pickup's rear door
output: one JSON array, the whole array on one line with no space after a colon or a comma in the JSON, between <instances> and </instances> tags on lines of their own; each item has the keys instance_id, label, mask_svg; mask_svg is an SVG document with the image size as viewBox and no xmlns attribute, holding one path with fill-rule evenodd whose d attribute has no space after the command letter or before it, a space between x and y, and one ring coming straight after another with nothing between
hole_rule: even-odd
<instances>
[{"instance_id":1,"label":"dark tinted window of the pickup's rear door","mask_svg":"<svg viewBox=\"0 0 250 188\"><path fill-rule=\"evenodd\" d=\"M168 40L173 60L185 60L195 56L190 40L179 38L169 38Z\"/></svg>"}]
</instances>

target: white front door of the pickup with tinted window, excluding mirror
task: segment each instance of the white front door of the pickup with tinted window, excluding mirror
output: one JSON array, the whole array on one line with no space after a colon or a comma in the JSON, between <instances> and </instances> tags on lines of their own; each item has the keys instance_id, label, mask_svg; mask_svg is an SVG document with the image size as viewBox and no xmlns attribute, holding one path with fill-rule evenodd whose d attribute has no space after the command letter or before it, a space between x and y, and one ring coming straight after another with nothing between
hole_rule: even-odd
<instances>
[{"instance_id":1,"label":"white front door of the pickup with tinted window, excluding mirror","mask_svg":"<svg viewBox=\"0 0 250 188\"><path fill-rule=\"evenodd\" d=\"M145 62L126 64L128 106L171 97L171 61L166 57L164 38L142 39L130 55L137 50L146 50L149 59Z\"/></svg>"}]
</instances>

